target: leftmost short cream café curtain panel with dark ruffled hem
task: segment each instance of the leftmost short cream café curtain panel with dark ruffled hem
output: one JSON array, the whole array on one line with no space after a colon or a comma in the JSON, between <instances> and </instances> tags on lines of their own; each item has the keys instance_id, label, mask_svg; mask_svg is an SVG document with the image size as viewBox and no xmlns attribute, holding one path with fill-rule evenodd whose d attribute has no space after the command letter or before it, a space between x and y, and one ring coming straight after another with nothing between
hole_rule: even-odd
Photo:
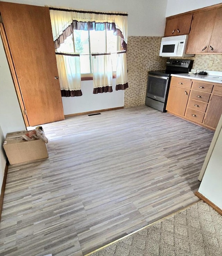
<instances>
[{"instance_id":1,"label":"leftmost short cream caf\u00e9 curtain panel with dark ruffled hem","mask_svg":"<svg viewBox=\"0 0 222 256\"><path fill-rule=\"evenodd\" d=\"M56 53L63 97L82 96L79 54Z\"/></svg>"}]
</instances>

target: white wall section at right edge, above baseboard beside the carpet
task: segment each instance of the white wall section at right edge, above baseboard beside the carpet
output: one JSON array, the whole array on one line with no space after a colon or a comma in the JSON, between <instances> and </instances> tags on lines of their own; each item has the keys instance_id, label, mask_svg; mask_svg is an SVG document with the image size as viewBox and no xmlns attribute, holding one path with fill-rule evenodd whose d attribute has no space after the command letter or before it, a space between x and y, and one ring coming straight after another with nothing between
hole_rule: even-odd
<instances>
[{"instance_id":1,"label":"white wall section at right edge, above baseboard beside the carpet","mask_svg":"<svg viewBox=\"0 0 222 256\"><path fill-rule=\"evenodd\" d=\"M198 191L222 209L222 130L215 143Z\"/></svg>"}]
</instances>

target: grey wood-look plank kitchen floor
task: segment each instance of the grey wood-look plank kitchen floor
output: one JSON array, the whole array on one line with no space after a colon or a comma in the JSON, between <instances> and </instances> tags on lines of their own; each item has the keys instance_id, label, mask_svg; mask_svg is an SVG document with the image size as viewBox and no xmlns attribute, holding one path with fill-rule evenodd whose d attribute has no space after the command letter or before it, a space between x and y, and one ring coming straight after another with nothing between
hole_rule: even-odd
<instances>
[{"instance_id":1,"label":"grey wood-look plank kitchen floor","mask_svg":"<svg viewBox=\"0 0 222 256\"><path fill-rule=\"evenodd\" d=\"M9 166L0 256L82 256L198 201L210 130L147 106L43 128L49 158Z\"/></svg>"}]
</instances>

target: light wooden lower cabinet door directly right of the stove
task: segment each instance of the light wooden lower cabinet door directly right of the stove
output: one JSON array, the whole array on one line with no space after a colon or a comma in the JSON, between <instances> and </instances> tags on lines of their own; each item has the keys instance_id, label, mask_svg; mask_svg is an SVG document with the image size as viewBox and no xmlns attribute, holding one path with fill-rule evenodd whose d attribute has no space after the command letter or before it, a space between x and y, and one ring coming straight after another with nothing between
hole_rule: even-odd
<instances>
[{"instance_id":1,"label":"light wooden lower cabinet door directly right of the stove","mask_svg":"<svg viewBox=\"0 0 222 256\"><path fill-rule=\"evenodd\" d=\"M171 85L166 109L173 114L184 116L189 94L190 90Z\"/></svg>"}]
</instances>

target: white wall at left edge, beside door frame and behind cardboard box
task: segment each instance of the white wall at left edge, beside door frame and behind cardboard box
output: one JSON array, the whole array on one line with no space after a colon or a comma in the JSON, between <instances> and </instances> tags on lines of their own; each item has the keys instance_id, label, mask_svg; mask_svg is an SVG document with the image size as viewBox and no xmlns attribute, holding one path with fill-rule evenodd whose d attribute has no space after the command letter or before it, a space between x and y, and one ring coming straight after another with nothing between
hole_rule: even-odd
<instances>
[{"instance_id":1,"label":"white wall at left edge, beside door frame and behind cardboard box","mask_svg":"<svg viewBox=\"0 0 222 256\"><path fill-rule=\"evenodd\" d=\"M2 41L0 40L0 188L5 171L6 158L2 143L8 132L25 130L22 113L18 104L11 73Z\"/></svg>"}]
</instances>

